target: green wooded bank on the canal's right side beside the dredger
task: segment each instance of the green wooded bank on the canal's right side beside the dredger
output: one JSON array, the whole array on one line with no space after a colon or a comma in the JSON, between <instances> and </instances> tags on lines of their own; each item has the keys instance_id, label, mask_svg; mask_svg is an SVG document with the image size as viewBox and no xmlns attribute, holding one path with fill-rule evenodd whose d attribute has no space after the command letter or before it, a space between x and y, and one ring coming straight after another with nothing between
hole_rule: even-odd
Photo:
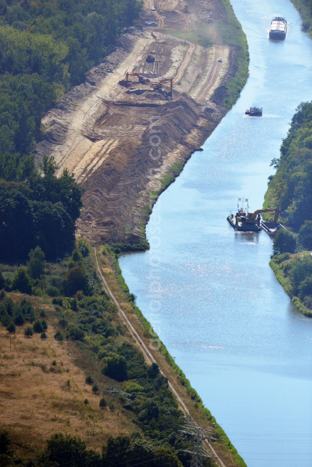
<instances>
[{"instance_id":1,"label":"green wooded bank on the canal's right side beside the dredger","mask_svg":"<svg viewBox=\"0 0 312 467\"><path fill-rule=\"evenodd\" d=\"M271 165L264 207L279 206L282 222L270 266L294 304L312 317L312 102L301 103L291 120L280 158Z\"/></svg>"}]
</instances>

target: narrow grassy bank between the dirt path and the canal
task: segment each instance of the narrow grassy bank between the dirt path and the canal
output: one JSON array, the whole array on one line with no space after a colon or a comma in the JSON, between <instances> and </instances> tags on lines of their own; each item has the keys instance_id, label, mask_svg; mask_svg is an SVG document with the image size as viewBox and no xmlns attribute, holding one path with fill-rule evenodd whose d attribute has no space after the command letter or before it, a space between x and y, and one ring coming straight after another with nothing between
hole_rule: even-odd
<instances>
[{"instance_id":1,"label":"narrow grassy bank between the dirt path and the canal","mask_svg":"<svg viewBox=\"0 0 312 467\"><path fill-rule=\"evenodd\" d=\"M172 369L177 381L180 383L185 393L189 396L189 399L191 398L191 396L195 397L194 403L193 403L194 404L193 407L195 411L192 412L192 417L194 418L194 420L199 425L202 424L202 426L207 425L209 423L214 423L216 435L218 439L222 441L223 449L231 455L232 459L235 461L236 466L239 466L239 467L246 466L244 460L241 458L241 456L239 456L239 453L237 452L235 447L232 445L230 439L227 437L222 427L218 425L215 417L211 415L210 410L204 407L201 397L198 395L196 390L192 388L186 375L183 373L181 368L179 368L179 366L175 363L174 358L169 354L166 346L163 344L163 342L161 342L157 334L152 330L151 324L144 317L144 315L142 314L142 311L135 304L135 301L134 301L135 297L133 296L133 294L130 293L130 290L122 276L122 271L118 263L118 256L107 245L105 245L103 248L103 255L105 255L105 258L109 257L110 265L114 272L114 277L115 277L117 287L118 287L117 290L120 290L122 292L125 302L130 305L130 309L129 309L130 313L135 314L136 317L138 318L138 322L141 326L142 335L146 339L150 339L151 334L152 334L153 338L159 342L159 352L164 357L168 366Z\"/></svg>"}]
</instances>

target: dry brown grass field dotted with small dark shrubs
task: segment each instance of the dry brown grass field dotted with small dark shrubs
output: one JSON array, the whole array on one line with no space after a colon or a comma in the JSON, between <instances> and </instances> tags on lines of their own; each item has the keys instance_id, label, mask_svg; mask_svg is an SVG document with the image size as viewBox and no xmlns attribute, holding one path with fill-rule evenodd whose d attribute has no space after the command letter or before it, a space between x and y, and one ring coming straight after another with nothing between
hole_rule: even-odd
<instances>
[{"instance_id":1,"label":"dry brown grass field dotted with small dark shrubs","mask_svg":"<svg viewBox=\"0 0 312 467\"><path fill-rule=\"evenodd\" d=\"M87 373L75 364L83 355L76 343L54 339L48 312L46 340L36 333L27 338L25 326L17 326L10 348L10 335L0 325L0 429L9 430L16 454L37 453L55 432L79 435L88 448L99 451L108 434L138 431L116 397L104 395L114 410L100 409L102 395L92 393Z\"/></svg>"}]
</instances>

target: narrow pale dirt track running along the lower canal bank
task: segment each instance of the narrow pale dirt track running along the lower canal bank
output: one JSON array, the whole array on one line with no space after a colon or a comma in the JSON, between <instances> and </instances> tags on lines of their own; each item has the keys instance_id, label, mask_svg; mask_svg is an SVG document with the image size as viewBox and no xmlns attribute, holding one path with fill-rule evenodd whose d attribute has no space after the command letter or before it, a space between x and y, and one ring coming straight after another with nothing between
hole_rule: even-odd
<instances>
[{"instance_id":1,"label":"narrow pale dirt track running along the lower canal bank","mask_svg":"<svg viewBox=\"0 0 312 467\"><path fill-rule=\"evenodd\" d=\"M155 360L155 358L153 357L152 353L150 352L150 350L146 347L145 345L145 342L141 339L141 337L139 336L138 332L135 330L135 328L133 327L133 325L131 324L131 322L129 321L126 313L123 311L123 309L121 308L120 304L118 303L118 301L116 300L116 297L115 295L113 294L113 292L110 290L109 288L109 285L108 283L106 282L106 279L105 277L103 276L102 274L102 270L100 268L100 265L99 265L99 262L98 262L98 259L97 259L97 255L96 255L96 248L94 248L94 255L95 255L95 262L96 262L96 268L98 270L98 273L101 277L101 281L102 281L102 284L104 286L104 289L108 292L109 296L111 297L111 299L113 300L113 302L116 304L117 306L117 309L118 309L118 313L119 313L119 316L123 319L123 322L124 324L127 326L128 328L128 331L131 333L133 339L137 342L138 346L140 347L141 349L141 352L143 353L143 355L145 356L145 360L149 362L149 364L151 365L152 363L157 363L157 361ZM164 375L166 378L168 378L167 375L165 375L163 373L162 370L160 370L160 372L162 373L162 375ZM189 409L187 408L187 406L185 405L185 403L183 402L183 400L181 399L181 397L179 396L179 394L177 393L177 391L174 389L174 386L172 384L172 382L169 380L168 378L168 386L171 390L171 392L173 392L174 396L177 398L178 402L179 402L179 405L181 407L181 410L182 412L184 413L184 415L186 417L189 417ZM217 458L216 459L216 463L218 464L219 467L226 467L225 466L225 463L218 457L216 451L214 450L214 448L211 446L210 443L207 442L207 440L204 440L204 444L206 445L206 447L209 448L209 451Z\"/></svg>"}]
</instances>

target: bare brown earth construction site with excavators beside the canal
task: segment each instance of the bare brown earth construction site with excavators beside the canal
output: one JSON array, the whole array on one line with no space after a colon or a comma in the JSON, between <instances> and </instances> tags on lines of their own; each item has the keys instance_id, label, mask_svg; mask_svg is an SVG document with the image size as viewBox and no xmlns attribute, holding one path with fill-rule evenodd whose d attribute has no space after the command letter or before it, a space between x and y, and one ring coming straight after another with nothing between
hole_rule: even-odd
<instances>
[{"instance_id":1,"label":"bare brown earth construction site with excavators beside the canal","mask_svg":"<svg viewBox=\"0 0 312 467\"><path fill-rule=\"evenodd\" d=\"M36 161L53 155L59 170L67 167L85 187L78 227L87 240L144 237L151 192L160 190L160 179L174 163L183 165L224 116L224 86L235 73L235 51L221 43L212 14L222 19L221 2L145 0L137 27L125 31L86 82L44 117ZM172 99L169 81L162 91L139 83L137 76L120 85L126 72L151 82L172 77Z\"/></svg>"}]
</instances>

